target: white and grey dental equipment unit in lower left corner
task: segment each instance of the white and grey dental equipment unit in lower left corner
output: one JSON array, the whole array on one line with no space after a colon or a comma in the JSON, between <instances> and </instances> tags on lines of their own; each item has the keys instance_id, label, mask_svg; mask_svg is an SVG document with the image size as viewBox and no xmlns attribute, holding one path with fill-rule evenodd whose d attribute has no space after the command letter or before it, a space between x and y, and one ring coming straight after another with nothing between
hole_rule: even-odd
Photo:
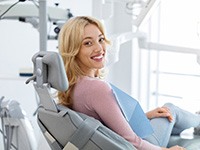
<instances>
[{"instance_id":1,"label":"white and grey dental equipment unit in lower left corner","mask_svg":"<svg viewBox=\"0 0 200 150\"><path fill-rule=\"evenodd\" d=\"M2 97L0 117L4 150L37 150L34 130L19 102Z\"/></svg>"}]
</instances>

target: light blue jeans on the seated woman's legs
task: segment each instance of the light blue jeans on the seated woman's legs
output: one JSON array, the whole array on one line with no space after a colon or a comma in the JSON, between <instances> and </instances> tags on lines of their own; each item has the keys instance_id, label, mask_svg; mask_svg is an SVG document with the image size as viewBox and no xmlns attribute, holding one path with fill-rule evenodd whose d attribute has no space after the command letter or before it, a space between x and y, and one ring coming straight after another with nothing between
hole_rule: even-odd
<instances>
[{"instance_id":1,"label":"light blue jeans on the seated woman's legs","mask_svg":"<svg viewBox=\"0 0 200 150\"><path fill-rule=\"evenodd\" d=\"M185 111L171 103L164 105L168 107L173 116L173 121L167 118L154 118L150 120L154 133L144 140L152 144L167 147L170 136L180 134L183 130L200 125L200 116Z\"/></svg>"}]
</instances>

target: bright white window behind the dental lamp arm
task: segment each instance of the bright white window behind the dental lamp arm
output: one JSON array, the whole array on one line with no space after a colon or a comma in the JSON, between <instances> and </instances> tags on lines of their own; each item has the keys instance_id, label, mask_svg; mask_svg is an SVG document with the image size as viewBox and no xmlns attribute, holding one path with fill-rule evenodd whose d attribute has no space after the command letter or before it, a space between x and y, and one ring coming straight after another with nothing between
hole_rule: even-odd
<instances>
[{"instance_id":1,"label":"bright white window behind the dental lamp arm","mask_svg":"<svg viewBox=\"0 0 200 150\"><path fill-rule=\"evenodd\" d=\"M150 41L200 50L198 6L199 0L161 0L143 30ZM172 102L192 112L200 110L197 55L142 49L140 62L140 97L147 109Z\"/></svg>"}]
</instances>

